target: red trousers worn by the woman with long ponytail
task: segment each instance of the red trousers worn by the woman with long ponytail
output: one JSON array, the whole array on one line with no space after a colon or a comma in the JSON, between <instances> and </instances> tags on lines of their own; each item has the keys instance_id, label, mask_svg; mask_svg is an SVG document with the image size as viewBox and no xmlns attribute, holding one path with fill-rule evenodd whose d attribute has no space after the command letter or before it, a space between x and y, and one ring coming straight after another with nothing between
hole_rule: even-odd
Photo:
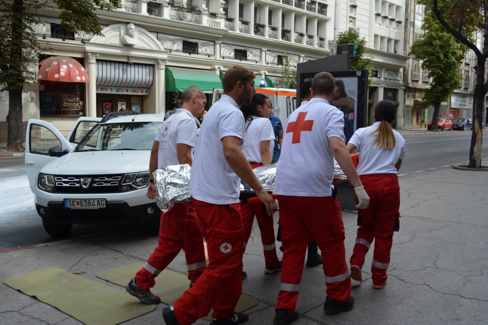
<instances>
[{"instance_id":1,"label":"red trousers worn by the woman with long ponytail","mask_svg":"<svg viewBox=\"0 0 488 325\"><path fill-rule=\"evenodd\" d=\"M360 227L350 262L351 265L362 268L364 256L374 239L371 273L373 284L381 285L387 278L393 228L399 217L400 186L398 177L394 174L362 175L360 178L370 196L370 206L358 210Z\"/></svg>"}]
</instances>

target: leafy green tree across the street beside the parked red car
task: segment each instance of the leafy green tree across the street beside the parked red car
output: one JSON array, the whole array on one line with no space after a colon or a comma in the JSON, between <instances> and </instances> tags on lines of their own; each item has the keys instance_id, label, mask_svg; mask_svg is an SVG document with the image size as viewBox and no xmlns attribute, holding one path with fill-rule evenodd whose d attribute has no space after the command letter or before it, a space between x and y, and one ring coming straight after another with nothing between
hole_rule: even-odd
<instances>
[{"instance_id":1,"label":"leafy green tree across the street beside the parked red car","mask_svg":"<svg viewBox=\"0 0 488 325\"><path fill-rule=\"evenodd\" d=\"M428 70L429 77L432 78L430 88L423 96L422 106L434 106L432 127L437 130L441 102L446 101L452 90L459 86L459 66L466 53L466 47L446 32L429 8L426 8L425 13L422 25L425 33L413 44L410 55L423 60L422 69Z\"/></svg>"}]
</instances>

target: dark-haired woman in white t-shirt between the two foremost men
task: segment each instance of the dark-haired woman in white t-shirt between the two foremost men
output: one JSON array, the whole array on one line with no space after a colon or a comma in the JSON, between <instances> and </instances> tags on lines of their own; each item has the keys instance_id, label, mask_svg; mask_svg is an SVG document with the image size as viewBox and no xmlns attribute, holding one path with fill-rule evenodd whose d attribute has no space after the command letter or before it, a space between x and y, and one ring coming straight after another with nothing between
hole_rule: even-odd
<instances>
[{"instance_id":1,"label":"dark-haired woman in white t-shirt between the two foremost men","mask_svg":"<svg viewBox=\"0 0 488 325\"><path fill-rule=\"evenodd\" d=\"M241 111L246 120L246 139L242 152L253 169L271 164L271 153L275 147L275 132L269 120L271 101L262 93L255 93L249 105L242 105ZM264 252L264 272L275 273L281 270L275 245L275 226L273 216L268 215L260 201L243 200L241 202L242 226L244 228L244 248L251 237L254 216L261 232ZM245 272L243 273L244 276Z\"/></svg>"}]
</instances>

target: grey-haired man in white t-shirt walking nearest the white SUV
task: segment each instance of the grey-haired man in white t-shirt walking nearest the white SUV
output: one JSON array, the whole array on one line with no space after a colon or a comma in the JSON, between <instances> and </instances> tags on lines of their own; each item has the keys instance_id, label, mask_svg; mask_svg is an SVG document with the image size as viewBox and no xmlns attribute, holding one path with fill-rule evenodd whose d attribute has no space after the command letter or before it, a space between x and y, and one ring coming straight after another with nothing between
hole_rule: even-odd
<instances>
[{"instance_id":1,"label":"grey-haired man in white t-shirt walking nearest the white SUV","mask_svg":"<svg viewBox=\"0 0 488 325\"><path fill-rule=\"evenodd\" d=\"M153 173L165 166L192 165L192 151L197 140L195 117L202 115L207 100L198 87L188 87L181 93L181 108L161 124L154 140L149 160L149 186L146 196L155 198ZM161 213L159 243L144 267L137 272L126 289L143 304L157 304L161 299L149 290L155 278L183 249L188 267L188 278L193 283L205 270L205 251L196 212L186 203L175 204Z\"/></svg>"}]
</instances>

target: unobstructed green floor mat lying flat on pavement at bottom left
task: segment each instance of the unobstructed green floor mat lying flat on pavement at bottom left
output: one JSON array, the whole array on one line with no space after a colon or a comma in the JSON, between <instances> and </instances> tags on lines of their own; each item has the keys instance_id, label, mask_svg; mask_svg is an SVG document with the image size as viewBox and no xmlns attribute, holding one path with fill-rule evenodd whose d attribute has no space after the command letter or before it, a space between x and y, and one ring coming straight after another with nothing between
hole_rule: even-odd
<instances>
[{"instance_id":1,"label":"unobstructed green floor mat lying flat on pavement at bottom left","mask_svg":"<svg viewBox=\"0 0 488 325\"><path fill-rule=\"evenodd\" d=\"M4 283L87 325L115 325L156 309L123 290L56 267L14 276Z\"/></svg>"}]
</instances>

